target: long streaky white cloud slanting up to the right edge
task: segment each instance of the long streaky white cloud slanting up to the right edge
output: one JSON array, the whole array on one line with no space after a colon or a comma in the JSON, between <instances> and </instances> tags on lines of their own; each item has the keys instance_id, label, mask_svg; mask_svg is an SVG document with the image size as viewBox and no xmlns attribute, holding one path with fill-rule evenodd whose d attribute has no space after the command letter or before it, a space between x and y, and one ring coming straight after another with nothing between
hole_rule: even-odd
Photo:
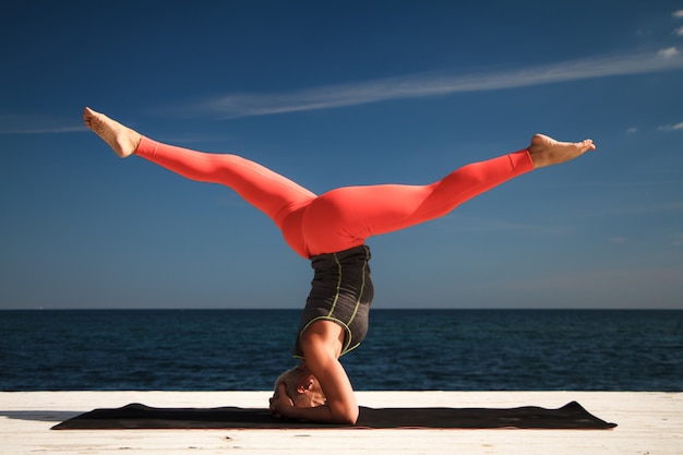
<instances>
[{"instance_id":1,"label":"long streaky white cloud slanting up to the right edge","mask_svg":"<svg viewBox=\"0 0 683 455\"><path fill-rule=\"evenodd\" d=\"M406 99L525 87L586 79L651 73L683 68L674 47L658 52L592 58L499 72L469 74L422 73L337 84L280 93L230 94L193 106L183 112L221 118L268 116L316 109L357 106L391 99Z\"/></svg>"}]
</instances>

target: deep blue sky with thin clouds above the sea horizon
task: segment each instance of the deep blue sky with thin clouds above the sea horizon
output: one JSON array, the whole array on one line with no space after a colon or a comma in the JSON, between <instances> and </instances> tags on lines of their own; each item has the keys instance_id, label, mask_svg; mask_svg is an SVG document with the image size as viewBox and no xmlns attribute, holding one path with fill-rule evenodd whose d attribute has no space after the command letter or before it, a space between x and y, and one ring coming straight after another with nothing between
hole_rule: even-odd
<instances>
[{"instance_id":1,"label":"deep blue sky with thin clouds above the sea horizon","mask_svg":"<svg viewBox=\"0 0 683 455\"><path fill-rule=\"evenodd\" d=\"M683 308L683 2L13 1L0 309L300 308L229 189L119 159L84 106L322 193L543 132L598 151L369 240L375 308Z\"/></svg>"}]
</instances>

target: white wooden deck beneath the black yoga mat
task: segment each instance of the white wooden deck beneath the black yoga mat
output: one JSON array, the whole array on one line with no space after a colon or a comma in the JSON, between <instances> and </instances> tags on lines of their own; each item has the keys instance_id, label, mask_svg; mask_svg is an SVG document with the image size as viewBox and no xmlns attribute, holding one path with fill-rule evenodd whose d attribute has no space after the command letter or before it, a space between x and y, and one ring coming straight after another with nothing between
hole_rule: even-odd
<instances>
[{"instance_id":1,"label":"white wooden deck beneath the black yoga mat","mask_svg":"<svg viewBox=\"0 0 683 455\"><path fill-rule=\"evenodd\" d=\"M580 403L613 430L67 430L101 407L264 407L267 392L3 392L0 453L23 454L683 454L683 393L359 392L370 407L556 408Z\"/></svg>"}]
</instances>

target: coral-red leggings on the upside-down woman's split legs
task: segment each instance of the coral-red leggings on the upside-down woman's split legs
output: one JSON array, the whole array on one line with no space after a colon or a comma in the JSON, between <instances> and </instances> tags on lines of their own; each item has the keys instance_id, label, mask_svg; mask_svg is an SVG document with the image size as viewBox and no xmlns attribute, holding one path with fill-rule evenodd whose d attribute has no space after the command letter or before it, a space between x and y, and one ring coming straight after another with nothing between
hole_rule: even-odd
<instances>
[{"instance_id":1,"label":"coral-red leggings on the upside-down woman's split legs","mask_svg":"<svg viewBox=\"0 0 683 455\"><path fill-rule=\"evenodd\" d=\"M523 149L464 166L431 184L346 187L316 196L237 155L194 152L147 137L135 154L188 179L231 188L273 219L287 243L307 259L360 247L370 236L438 218L534 169Z\"/></svg>"}]
</instances>

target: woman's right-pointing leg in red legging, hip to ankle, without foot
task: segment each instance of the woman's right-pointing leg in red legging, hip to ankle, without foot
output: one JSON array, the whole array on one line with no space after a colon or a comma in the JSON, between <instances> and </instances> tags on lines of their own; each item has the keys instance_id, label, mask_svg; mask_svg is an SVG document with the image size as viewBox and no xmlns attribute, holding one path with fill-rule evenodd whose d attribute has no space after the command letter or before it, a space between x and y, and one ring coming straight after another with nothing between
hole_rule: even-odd
<instances>
[{"instance_id":1,"label":"woman's right-pointing leg in red legging, hip to ankle, without foot","mask_svg":"<svg viewBox=\"0 0 683 455\"><path fill-rule=\"evenodd\" d=\"M534 169L524 149L464 166L426 185L381 184L333 190L305 209L302 235L312 255L443 216L465 201Z\"/></svg>"}]
</instances>

